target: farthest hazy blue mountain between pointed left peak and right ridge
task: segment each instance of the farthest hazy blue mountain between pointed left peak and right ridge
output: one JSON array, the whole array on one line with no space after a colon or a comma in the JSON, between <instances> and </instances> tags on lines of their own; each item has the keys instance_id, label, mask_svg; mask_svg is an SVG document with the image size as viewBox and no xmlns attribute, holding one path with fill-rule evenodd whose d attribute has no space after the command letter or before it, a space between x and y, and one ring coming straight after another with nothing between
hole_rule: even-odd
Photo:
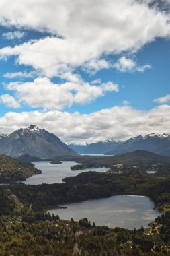
<instances>
[{"instance_id":1,"label":"farthest hazy blue mountain between pointed left peak and right ridge","mask_svg":"<svg viewBox=\"0 0 170 256\"><path fill-rule=\"evenodd\" d=\"M121 141L114 141L114 139L108 139L106 141L98 141L85 145L71 144L69 145L69 147L80 154L104 154L107 151L114 150L117 146L120 146L121 143Z\"/></svg>"}]
</instances>

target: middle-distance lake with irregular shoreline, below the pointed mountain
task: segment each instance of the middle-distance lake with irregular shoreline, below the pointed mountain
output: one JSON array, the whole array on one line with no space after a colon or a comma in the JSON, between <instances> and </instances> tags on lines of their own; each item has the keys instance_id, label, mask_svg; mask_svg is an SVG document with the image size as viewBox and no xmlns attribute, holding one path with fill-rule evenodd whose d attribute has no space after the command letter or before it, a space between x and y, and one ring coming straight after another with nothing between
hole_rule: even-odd
<instances>
[{"instance_id":1,"label":"middle-distance lake with irregular shoreline, below the pointed mountain","mask_svg":"<svg viewBox=\"0 0 170 256\"><path fill-rule=\"evenodd\" d=\"M62 179L66 177L73 177L81 172L97 171L104 172L108 168L93 168L86 170L71 170L71 166L77 164L76 162L63 161L62 164L50 164L50 162L32 162L36 168L42 171L42 174L34 175L23 183L25 184L42 184L42 183L62 183Z\"/></svg>"}]
</instances>

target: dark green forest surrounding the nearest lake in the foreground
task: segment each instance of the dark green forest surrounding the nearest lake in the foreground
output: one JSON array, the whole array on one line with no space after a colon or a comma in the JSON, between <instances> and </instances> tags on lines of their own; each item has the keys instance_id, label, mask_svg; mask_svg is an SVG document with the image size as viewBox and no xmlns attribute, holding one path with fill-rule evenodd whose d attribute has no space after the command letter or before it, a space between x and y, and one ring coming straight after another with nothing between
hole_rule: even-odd
<instances>
[{"instance_id":1,"label":"dark green forest surrounding the nearest lake in the foreground","mask_svg":"<svg viewBox=\"0 0 170 256\"><path fill-rule=\"evenodd\" d=\"M63 181L0 187L0 255L169 255L169 171L83 172ZM96 226L87 218L60 220L46 212L62 203L121 194L151 197L165 214L148 229L126 230Z\"/></svg>"}]
</instances>

